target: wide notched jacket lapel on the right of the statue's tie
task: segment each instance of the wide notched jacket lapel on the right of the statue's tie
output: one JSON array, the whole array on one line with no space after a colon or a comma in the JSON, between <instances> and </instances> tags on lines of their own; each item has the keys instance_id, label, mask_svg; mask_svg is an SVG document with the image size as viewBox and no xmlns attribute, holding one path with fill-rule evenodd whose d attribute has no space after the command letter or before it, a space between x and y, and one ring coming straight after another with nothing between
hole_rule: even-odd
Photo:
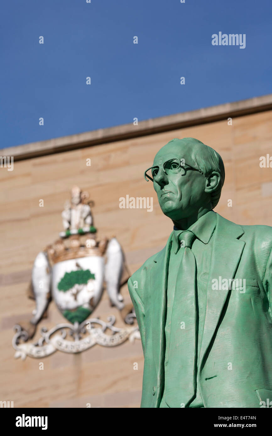
<instances>
[{"instance_id":1,"label":"wide notched jacket lapel on the right of the statue's tie","mask_svg":"<svg viewBox=\"0 0 272 436\"><path fill-rule=\"evenodd\" d=\"M212 290L212 280L233 279L245 242L238 240L244 234L241 226L217 214L217 226L213 234L211 266L207 285L206 316L200 347L200 370L205 364L205 354L213 338L220 315L230 290Z\"/></svg>"}]
</instances>

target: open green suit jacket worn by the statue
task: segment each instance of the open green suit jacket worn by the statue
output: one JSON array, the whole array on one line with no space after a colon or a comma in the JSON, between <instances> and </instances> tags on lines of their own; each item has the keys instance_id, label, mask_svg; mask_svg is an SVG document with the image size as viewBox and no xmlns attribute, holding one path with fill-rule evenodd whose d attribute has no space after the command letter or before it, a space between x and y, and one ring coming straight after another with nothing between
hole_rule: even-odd
<instances>
[{"instance_id":1,"label":"open green suit jacket worn by the statue","mask_svg":"<svg viewBox=\"0 0 272 436\"><path fill-rule=\"evenodd\" d=\"M128 281L145 356L141 407L159 407L162 398L171 240L172 233ZM245 292L213 290L220 277L245 279ZM267 399L272 405L271 307L272 228L237 225L217 214L199 350L205 407L255 408Z\"/></svg>"}]
</instances>

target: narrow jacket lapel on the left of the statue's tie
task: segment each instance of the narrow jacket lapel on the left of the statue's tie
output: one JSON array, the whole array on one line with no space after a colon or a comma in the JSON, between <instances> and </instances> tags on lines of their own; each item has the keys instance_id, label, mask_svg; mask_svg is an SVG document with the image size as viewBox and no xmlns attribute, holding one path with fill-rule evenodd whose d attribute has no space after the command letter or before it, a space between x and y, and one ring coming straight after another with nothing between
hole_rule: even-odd
<instances>
[{"instance_id":1,"label":"narrow jacket lapel on the left of the statue's tie","mask_svg":"<svg viewBox=\"0 0 272 436\"><path fill-rule=\"evenodd\" d=\"M152 287L150 288L152 306L152 345L153 357L158 375L158 386L161 385L163 374L162 365L164 364L165 303L172 233L169 236L165 248L155 256L154 265L150 271L150 283L152 283Z\"/></svg>"}]
</instances>

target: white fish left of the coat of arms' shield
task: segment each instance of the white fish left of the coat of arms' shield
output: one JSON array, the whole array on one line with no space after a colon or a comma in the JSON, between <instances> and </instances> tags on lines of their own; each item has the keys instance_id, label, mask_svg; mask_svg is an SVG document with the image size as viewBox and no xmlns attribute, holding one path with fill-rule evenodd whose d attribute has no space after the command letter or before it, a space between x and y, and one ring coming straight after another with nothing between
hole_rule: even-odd
<instances>
[{"instance_id":1,"label":"white fish left of the coat of arms' shield","mask_svg":"<svg viewBox=\"0 0 272 436\"><path fill-rule=\"evenodd\" d=\"M31 324L38 324L50 299L51 269L47 256L39 252L34 260L32 268L32 289L36 301L36 308L33 310Z\"/></svg>"}]
</instances>

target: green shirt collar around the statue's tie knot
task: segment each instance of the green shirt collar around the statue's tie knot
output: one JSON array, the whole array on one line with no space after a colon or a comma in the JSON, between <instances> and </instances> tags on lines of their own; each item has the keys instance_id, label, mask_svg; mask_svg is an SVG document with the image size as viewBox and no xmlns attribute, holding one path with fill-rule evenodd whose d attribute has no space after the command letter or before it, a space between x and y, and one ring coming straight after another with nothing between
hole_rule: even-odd
<instances>
[{"instance_id":1,"label":"green shirt collar around the statue's tie knot","mask_svg":"<svg viewBox=\"0 0 272 436\"><path fill-rule=\"evenodd\" d=\"M187 230L193 232L196 235L197 239L199 239L204 244L207 244L212 237L216 222L216 213L213 211L209 211L207 212L207 214L202 215L202 217L194 222ZM185 232L185 230L181 230L180 228L174 226L172 241L175 246L179 245L179 235L182 232Z\"/></svg>"}]
</instances>

